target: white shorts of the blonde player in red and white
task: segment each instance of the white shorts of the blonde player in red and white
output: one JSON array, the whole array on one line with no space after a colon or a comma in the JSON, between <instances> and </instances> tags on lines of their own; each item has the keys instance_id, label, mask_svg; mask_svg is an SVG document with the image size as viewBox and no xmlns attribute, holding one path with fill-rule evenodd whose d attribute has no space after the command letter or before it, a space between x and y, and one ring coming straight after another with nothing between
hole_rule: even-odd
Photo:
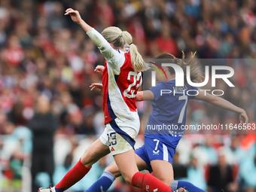
<instances>
[{"instance_id":1,"label":"white shorts of the blonde player in red and white","mask_svg":"<svg viewBox=\"0 0 256 192\"><path fill-rule=\"evenodd\" d=\"M139 133L139 128L139 119L123 121L116 118L106 124L99 139L109 147L112 155L123 154L134 148L134 139Z\"/></svg>"}]
</instances>

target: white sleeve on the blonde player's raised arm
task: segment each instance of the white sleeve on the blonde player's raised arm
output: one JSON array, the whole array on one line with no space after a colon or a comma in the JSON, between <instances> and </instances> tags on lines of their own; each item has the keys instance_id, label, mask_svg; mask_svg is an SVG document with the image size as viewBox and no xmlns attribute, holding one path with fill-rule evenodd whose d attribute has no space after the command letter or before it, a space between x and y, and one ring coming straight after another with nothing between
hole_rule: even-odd
<instances>
[{"instance_id":1,"label":"white sleeve on the blonde player's raised arm","mask_svg":"<svg viewBox=\"0 0 256 192\"><path fill-rule=\"evenodd\" d=\"M89 37L99 48L100 52L107 60L109 66L112 69L116 69L117 71L119 71L118 69L123 66L123 62L125 61L125 57L123 56L123 54L118 53L117 50L114 50L108 43L108 41L106 41L105 38L103 38L103 36L95 29L90 29L87 32L87 35L89 35Z\"/></svg>"}]
</instances>

